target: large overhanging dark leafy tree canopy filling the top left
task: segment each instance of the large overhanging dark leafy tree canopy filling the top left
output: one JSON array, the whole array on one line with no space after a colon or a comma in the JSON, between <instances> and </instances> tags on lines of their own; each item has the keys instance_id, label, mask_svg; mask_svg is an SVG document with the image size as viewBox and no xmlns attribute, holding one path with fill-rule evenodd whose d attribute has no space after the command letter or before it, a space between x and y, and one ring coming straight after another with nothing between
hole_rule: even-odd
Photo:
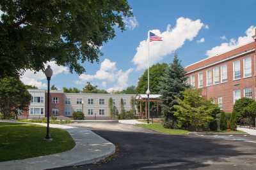
<instances>
[{"instance_id":1,"label":"large overhanging dark leafy tree canopy filling the top left","mask_svg":"<svg viewBox=\"0 0 256 170\"><path fill-rule=\"evenodd\" d=\"M51 60L81 74L132 16L126 0L3 0L0 10L0 76L44 70Z\"/></svg>"}]
</instances>

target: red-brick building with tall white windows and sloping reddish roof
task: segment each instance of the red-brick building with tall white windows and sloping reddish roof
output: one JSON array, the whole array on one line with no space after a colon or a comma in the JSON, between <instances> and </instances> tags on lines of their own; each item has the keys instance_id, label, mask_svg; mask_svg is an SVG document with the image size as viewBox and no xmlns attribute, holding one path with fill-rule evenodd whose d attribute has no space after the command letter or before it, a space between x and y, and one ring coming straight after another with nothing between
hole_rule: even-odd
<instances>
[{"instance_id":1,"label":"red-brick building with tall white windows and sloping reddish roof","mask_svg":"<svg viewBox=\"0 0 256 170\"><path fill-rule=\"evenodd\" d=\"M255 49L256 29L252 43L187 66L188 83L202 89L202 96L223 111L231 112L237 99L256 97Z\"/></svg>"}]
</instances>

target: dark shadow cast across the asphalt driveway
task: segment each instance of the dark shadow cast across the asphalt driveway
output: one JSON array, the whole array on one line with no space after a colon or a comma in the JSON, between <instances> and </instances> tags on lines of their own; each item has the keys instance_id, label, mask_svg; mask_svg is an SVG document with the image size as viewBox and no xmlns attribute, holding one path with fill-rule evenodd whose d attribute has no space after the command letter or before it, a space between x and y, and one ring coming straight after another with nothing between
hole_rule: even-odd
<instances>
[{"instance_id":1,"label":"dark shadow cast across the asphalt driveway","mask_svg":"<svg viewBox=\"0 0 256 170\"><path fill-rule=\"evenodd\" d=\"M225 162L222 158L254 155L243 144L195 136L170 136L158 133L102 131L93 132L118 145L109 162L60 169L196 169L205 162Z\"/></svg>"}]
</instances>

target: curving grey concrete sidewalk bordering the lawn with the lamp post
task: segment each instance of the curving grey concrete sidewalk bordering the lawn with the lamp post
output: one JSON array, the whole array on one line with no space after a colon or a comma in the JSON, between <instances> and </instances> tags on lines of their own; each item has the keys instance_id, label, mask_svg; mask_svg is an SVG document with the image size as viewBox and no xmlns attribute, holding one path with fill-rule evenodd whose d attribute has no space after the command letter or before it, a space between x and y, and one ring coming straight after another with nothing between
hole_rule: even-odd
<instances>
[{"instance_id":1,"label":"curving grey concrete sidewalk bordering the lawn with the lamp post","mask_svg":"<svg viewBox=\"0 0 256 170\"><path fill-rule=\"evenodd\" d=\"M68 131L74 141L76 141L76 146L67 152L29 159L0 162L0 169L40 170L63 166L78 166L81 164L98 162L115 153L115 145L113 145L113 143L101 138L92 131L58 124L50 124L50 127Z\"/></svg>"}]
</instances>

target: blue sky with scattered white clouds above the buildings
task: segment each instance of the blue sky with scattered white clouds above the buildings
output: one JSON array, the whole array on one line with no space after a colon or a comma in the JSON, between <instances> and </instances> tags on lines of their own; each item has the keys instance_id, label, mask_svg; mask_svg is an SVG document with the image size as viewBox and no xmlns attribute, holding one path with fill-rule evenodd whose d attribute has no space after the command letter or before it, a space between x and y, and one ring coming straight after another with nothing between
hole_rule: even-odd
<instances>
[{"instance_id":1,"label":"blue sky with scattered white clouds above the buildings","mask_svg":"<svg viewBox=\"0 0 256 170\"><path fill-rule=\"evenodd\" d=\"M150 60L154 61L151 64L170 63L175 51L182 60L182 65L187 66L252 41L250 36L256 25L256 1L253 0L131 0L129 4L134 18L125 18L129 24L127 31L117 30L116 37L102 46L104 55L100 57L100 62L83 64L86 73L80 77L76 73L68 73L65 67L53 66L57 74L52 78L52 84L59 89L82 89L86 81L91 81L108 90L121 90L129 85L136 85L144 71L143 64L147 66L147 53L143 52L147 48L143 44L143 40L147 39L147 27L163 36L164 40L150 44ZM140 49L137 49L140 43ZM136 62L132 62L134 57ZM43 76L40 78L28 73L22 81L45 89L46 80Z\"/></svg>"}]
</instances>

